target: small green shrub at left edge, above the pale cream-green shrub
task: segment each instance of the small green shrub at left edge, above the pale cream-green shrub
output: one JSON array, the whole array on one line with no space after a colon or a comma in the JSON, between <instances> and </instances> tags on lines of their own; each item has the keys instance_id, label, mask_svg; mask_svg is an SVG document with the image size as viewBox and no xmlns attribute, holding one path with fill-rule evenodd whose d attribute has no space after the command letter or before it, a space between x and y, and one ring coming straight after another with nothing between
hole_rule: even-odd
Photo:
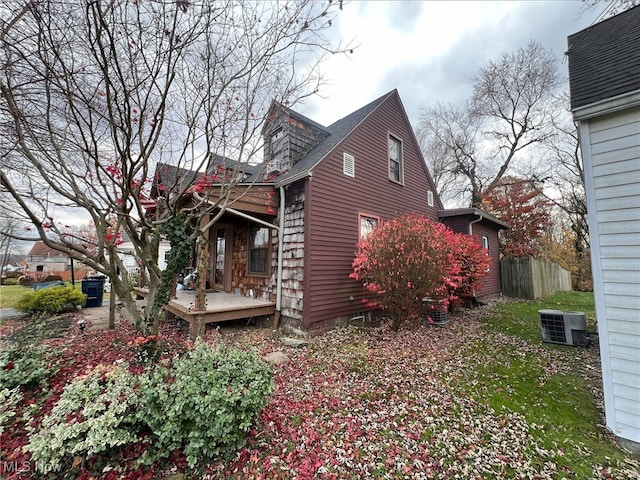
<instances>
[{"instance_id":1,"label":"small green shrub at left edge, above the pale cream-green shrub","mask_svg":"<svg viewBox=\"0 0 640 480\"><path fill-rule=\"evenodd\" d=\"M0 389L34 388L54 373L44 346L17 343L0 352Z\"/></svg>"}]
</instances>

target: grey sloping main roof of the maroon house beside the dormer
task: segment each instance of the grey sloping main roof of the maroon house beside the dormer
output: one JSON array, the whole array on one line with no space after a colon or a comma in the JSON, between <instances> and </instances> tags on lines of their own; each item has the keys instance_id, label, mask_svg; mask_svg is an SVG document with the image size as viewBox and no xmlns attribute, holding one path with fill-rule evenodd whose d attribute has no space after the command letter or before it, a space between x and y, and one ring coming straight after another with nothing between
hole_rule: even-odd
<instances>
[{"instance_id":1,"label":"grey sloping main roof of the maroon house beside the dormer","mask_svg":"<svg viewBox=\"0 0 640 480\"><path fill-rule=\"evenodd\" d=\"M283 173L276 181L276 187L288 185L308 177L313 168L318 165L331 151L344 140L358 125L360 125L376 108L384 103L387 98L397 95L397 90L382 95L373 102L350 113L346 117L332 123L328 127L322 127L329 133L329 136L316 145L304 158L293 165L287 172Z\"/></svg>"}]
</instances>

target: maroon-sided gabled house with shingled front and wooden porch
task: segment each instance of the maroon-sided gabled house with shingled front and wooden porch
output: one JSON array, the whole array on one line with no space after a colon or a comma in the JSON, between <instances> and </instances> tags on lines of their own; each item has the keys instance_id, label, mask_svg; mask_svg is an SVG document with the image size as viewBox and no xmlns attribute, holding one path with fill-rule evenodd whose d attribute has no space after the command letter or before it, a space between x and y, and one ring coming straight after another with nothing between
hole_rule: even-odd
<instances>
[{"instance_id":1,"label":"maroon-sided gabled house with shingled front and wooden porch","mask_svg":"<svg viewBox=\"0 0 640 480\"><path fill-rule=\"evenodd\" d=\"M274 102L262 134L263 164L232 190L233 203L200 253L208 256L201 281L212 290L206 305L182 291L167 309L193 326L196 317L233 318L226 307L233 303L236 318L274 315L276 325L296 333L362 318L365 292L349 278L359 239L381 219L417 212L438 221L443 210L398 92L329 126ZM193 175L161 165L156 180L180 185ZM216 188L208 185L211 203ZM494 228L487 236L496 235ZM231 295L254 302L243 312Z\"/></svg>"}]
</instances>

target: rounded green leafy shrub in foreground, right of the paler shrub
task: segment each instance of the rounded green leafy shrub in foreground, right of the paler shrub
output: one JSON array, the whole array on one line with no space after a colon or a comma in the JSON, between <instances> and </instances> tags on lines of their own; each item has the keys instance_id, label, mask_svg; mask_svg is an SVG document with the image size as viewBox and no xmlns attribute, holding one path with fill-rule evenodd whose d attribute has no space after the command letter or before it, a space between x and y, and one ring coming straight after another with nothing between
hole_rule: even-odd
<instances>
[{"instance_id":1,"label":"rounded green leafy shrub in foreground, right of the paler shrub","mask_svg":"<svg viewBox=\"0 0 640 480\"><path fill-rule=\"evenodd\" d=\"M235 452L273 392L273 372L258 355L197 341L193 350L141 379L138 419L152 432L150 464L182 449L190 468Z\"/></svg>"}]
</instances>

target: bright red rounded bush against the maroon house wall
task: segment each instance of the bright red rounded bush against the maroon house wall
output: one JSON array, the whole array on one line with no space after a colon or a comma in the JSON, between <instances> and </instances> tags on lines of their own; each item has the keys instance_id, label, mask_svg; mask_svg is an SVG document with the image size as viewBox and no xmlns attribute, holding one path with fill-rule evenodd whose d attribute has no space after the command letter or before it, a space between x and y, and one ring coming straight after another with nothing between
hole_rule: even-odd
<instances>
[{"instance_id":1,"label":"bright red rounded bush against the maroon house wall","mask_svg":"<svg viewBox=\"0 0 640 480\"><path fill-rule=\"evenodd\" d=\"M472 237L411 213L381 222L358 244L350 277L373 294L367 306L385 310L397 330L421 315L424 298L446 307L469 294L488 261Z\"/></svg>"}]
</instances>

